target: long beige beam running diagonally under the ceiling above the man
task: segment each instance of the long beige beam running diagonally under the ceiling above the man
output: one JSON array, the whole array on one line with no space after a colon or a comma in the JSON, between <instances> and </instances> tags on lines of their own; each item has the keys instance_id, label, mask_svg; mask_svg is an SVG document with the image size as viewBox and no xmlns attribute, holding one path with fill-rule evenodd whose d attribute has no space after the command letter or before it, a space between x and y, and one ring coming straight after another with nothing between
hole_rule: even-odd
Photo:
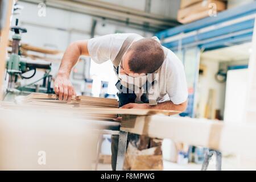
<instances>
[{"instance_id":1,"label":"long beige beam running diagonally under the ceiling above the man","mask_svg":"<svg viewBox=\"0 0 256 182\"><path fill-rule=\"evenodd\" d=\"M20 1L30 3L42 2L42 0ZM146 11L109 2L90 0L47 0L44 2L49 7L92 15L99 20L122 23L129 27L139 28L150 32L158 32L179 25L175 19L163 15L147 13Z\"/></svg>"}]
</instances>

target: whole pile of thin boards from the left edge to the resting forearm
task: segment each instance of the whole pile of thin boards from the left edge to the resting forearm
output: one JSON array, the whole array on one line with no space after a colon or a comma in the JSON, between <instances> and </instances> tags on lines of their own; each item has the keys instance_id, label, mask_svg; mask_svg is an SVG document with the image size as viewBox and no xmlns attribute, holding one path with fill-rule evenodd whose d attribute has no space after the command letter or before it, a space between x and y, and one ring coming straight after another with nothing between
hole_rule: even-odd
<instances>
[{"instance_id":1,"label":"whole pile of thin boards from the left edge to the resting forearm","mask_svg":"<svg viewBox=\"0 0 256 182\"><path fill-rule=\"evenodd\" d=\"M119 109L118 101L112 98L89 96L73 97L71 101L59 101L55 94L32 93L13 102L0 102L0 109L44 110L60 112L67 117L97 121L117 121L117 114L122 115L173 115L179 111L159 109Z\"/></svg>"}]
</instances>

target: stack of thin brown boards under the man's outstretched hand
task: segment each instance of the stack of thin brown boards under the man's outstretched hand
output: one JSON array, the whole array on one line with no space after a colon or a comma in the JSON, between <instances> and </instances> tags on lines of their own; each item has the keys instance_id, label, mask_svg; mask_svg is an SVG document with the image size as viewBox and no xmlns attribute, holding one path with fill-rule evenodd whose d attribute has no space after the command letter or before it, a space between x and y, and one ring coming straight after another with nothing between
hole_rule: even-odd
<instances>
[{"instance_id":1,"label":"stack of thin brown boards under the man's outstretched hand","mask_svg":"<svg viewBox=\"0 0 256 182\"><path fill-rule=\"evenodd\" d=\"M77 116L86 117L87 119L100 120L100 121L113 121L117 118L117 114L104 113L102 114L100 109L104 108L118 108L118 101L113 98L100 98L89 96L77 96L73 97L71 101L59 101L59 96L56 94L40 94L32 93L24 97L21 102L26 106L39 106L39 107L51 107L59 109L68 109ZM82 109L92 109L94 113L88 113Z\"/></svg>"}]
</instances>

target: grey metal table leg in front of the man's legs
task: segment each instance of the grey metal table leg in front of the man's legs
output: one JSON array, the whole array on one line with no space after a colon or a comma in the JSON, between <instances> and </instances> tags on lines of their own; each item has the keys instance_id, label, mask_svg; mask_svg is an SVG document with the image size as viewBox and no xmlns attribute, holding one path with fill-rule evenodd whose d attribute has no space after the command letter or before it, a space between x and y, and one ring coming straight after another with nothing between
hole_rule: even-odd
<instances>
[{"instance_id":1,"label":"grey metal table leg in front of the man's legs","mask_svg":"<svg viewBox=\"0 0 256 182\"><path fill-rule=\"evenodd\" d=\"M117 171L123 170L123 163L125 162L126 153L126 142L127 142L127 132L120 131L118 140L118 150L117 150Z\"/></svg>"}]
</instances>

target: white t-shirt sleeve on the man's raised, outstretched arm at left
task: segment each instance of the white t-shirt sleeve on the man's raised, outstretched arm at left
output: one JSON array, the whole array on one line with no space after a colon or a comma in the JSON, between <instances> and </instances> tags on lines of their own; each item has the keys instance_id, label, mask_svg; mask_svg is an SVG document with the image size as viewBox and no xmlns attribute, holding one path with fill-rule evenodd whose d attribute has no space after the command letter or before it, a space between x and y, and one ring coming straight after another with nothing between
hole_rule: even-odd
<instances>
[{"instance_id":1,"label":"white t-shirt sleeve on the man's raised, outstretched arm at left","mask_svg":"<svg viewBox=\"0 0 256 182\"><path fill-rule=\"evenodd\" d=\"M109 34L88 41L88 52L93 61L101 64L110 60L113 39L113 34Z\"/></svg>"}]
</instances>

